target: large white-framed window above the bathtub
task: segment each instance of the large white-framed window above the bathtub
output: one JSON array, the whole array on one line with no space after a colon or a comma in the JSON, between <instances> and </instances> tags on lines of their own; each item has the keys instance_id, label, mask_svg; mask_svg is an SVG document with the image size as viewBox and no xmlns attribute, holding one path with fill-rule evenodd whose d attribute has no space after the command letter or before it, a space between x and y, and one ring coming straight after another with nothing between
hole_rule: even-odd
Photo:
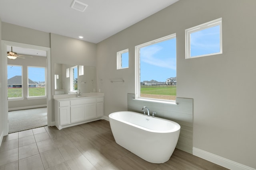
<instances>
[{"instance_id":1,"label":"large white-framed window above the bathtub","mask_svg":"<svg viewBox=\"0 0 256 170\"><path fill-rule=\"evenodd\" d=\"M135 47L136 98L176 100L176 34Z\"/></svg>"}]
</instances>

